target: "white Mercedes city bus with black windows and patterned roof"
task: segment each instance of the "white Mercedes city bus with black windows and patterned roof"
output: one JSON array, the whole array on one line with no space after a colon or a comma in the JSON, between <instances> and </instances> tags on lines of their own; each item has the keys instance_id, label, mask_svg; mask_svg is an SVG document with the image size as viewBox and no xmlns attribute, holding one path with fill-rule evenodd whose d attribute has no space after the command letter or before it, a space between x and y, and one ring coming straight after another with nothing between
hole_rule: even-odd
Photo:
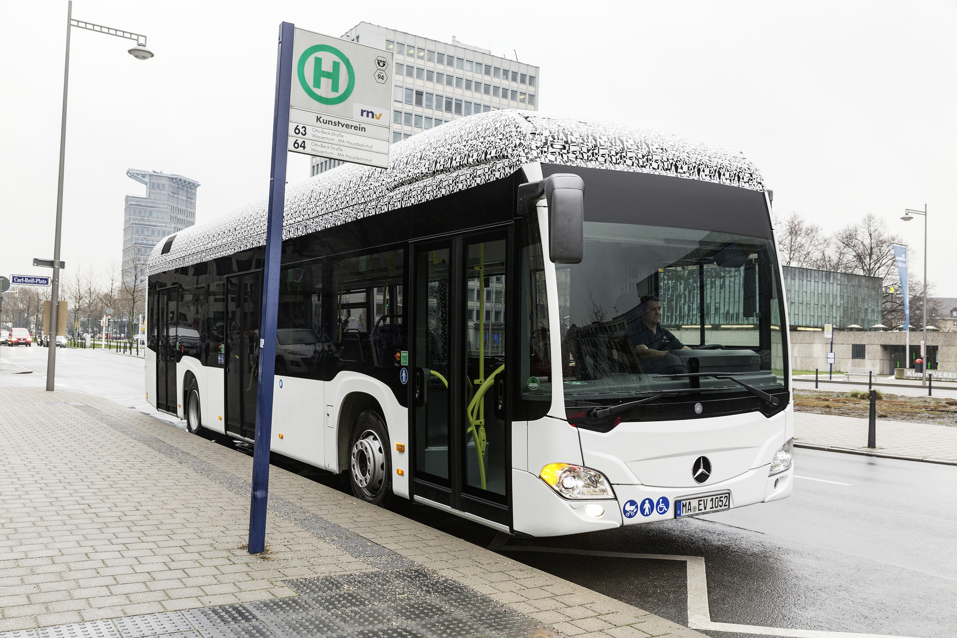
<instances>
[{"instance_id":1,"label":"white Mercedes city bus with black windows and patterned roof","mask_svg":"<svg viewBox=\"0 0 957 638\"><path fill-rule=\"evenodd\" d=\"M788 324L740 154L499 111L286 195L272 450L509 533L790 495ZM149 259L145 389L255 431L266 202Z\"/></svg>"}]
</instances>

